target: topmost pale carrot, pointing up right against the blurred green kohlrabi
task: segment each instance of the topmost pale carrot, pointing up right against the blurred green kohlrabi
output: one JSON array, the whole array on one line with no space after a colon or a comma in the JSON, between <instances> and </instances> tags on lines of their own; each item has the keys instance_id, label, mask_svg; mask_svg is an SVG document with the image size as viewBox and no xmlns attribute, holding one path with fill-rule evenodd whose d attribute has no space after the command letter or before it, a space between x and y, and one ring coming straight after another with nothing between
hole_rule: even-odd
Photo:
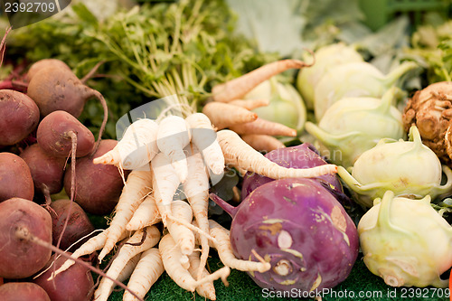
<instances>
[{"instance_id":1,"label":"topmost pale carrot, pointing up right against the blurred green kohlrabi","mask_svg":"<svg viewBox=\"0 0 452 301\"><path fill-rule=\"evenodd\" d=\"M212 99L215 101L229 102L234 99L241 99L251 89L259 83L270 79L271 77L287 71L289 69L300 69L311 66L304 61L298 60L280 60L273 61L250 71L237 79L227 81L212 88Z\"/></svg>"}]
</instances>

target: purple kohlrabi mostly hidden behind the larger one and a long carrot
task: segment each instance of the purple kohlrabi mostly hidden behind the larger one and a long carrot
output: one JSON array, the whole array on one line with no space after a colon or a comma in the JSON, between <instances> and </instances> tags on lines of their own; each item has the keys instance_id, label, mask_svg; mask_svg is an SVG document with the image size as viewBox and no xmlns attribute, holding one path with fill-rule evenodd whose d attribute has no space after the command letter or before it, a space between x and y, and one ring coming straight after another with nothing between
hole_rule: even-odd
<instances>
[{"instance_id":1,"label":"purple kohlrabi mostly hidden behind the larger one and a long carrot","mask_svg":"<svg viewBox=\"0 0 452 301\"><path fill-rule=\"evenodd\" d=\"M304 143L299 146L290 146L278 148L265 155L268 160L287 168L309 168L318 165L327 164L325 160L318 154L315 147L309 143ZM344 191L341 182L336 174L324 174L315 178L320 183L323 183L331 193L341 194L341 197L336 197L340 202L349 202L347 198L342 199ZM241 199L244 200L248 194L254 189L264 183L275 181L260 174L251 174L248 172L243 177L243 184L241 187Z\"/></svg>"}]
</instances>

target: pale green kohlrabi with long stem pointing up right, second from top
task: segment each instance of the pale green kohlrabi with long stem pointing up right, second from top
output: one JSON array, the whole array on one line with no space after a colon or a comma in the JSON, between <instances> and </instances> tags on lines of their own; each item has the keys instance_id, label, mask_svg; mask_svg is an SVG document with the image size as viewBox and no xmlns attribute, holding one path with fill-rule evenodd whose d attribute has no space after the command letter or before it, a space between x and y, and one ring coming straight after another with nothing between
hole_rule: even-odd
<instances>
[{"instance_id":1,"label":"pale green kohlrabi with long stem pointing up right, second from top","mask_svg":"<svg viewBox=\"0 0 452 301\"><path fill-rule=\"evenodd\" d=\"M316 120L320 120L327 108L344 97L380 98L405 73L417 67L417 63L405 61L387 75L366 61L344 63L328 69L314 90Z\"/></svg>"}]
</instances>

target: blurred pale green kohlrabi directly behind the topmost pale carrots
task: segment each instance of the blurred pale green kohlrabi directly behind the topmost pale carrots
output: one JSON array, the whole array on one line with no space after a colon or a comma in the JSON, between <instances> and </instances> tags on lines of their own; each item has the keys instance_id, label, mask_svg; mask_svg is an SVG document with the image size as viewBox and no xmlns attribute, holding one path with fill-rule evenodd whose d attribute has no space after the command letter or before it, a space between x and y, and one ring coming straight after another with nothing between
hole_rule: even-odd
<instances>
[{"instance_id":1,"label":"blurred pale green kohlrabi directly behind the topmost pale carrots","mask_svg":"<svg viewBox=\"0 0 452 301\"><path fill-rule=\"evenodd\" d=\"M281 123L300 133L306 122L306 106L292 85L271 78L252 89L244 99L269 99L266 107L254 108L259 118Z\"/></svg>"}]
</instances>

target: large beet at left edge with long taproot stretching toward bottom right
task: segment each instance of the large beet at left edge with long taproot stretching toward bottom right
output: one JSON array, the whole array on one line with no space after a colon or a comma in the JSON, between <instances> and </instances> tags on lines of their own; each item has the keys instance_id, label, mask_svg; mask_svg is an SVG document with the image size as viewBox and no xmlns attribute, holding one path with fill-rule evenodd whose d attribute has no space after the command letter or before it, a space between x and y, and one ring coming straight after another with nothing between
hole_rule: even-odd
<instances>
[{"instance_id":1,"label":"large beet at left edge with long taproot stretching toward bottom right","mask_svg":"<svg viewBox=\"0 0 452 301\"><path fill-rule=\"evenodd\" d=\"M45 266L51 250L23 240L18 231L52 243L52 217L35 202L12 198L0 202L0 277L30 277Z\"/></svg>"}]
</instances>

